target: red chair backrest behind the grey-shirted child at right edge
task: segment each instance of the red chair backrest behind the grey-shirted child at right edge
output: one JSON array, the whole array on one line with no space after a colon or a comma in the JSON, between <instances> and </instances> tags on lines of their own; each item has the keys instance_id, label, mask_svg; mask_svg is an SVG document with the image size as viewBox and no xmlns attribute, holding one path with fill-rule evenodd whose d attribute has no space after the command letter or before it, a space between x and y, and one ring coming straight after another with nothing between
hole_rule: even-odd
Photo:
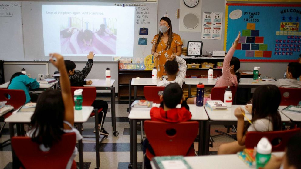
<instances>
[{"instance_id":1,"label":"red chair backrest behind the grey-shirted child at right edge","mask_svg":"<svg viewBox=\"0 0 301 169\"><path fill-rule=\"evenodd\" d=\"M279 88L281 93L280 106L298 105L301 101L301 88Z\"/></svg>"}]
</instances>

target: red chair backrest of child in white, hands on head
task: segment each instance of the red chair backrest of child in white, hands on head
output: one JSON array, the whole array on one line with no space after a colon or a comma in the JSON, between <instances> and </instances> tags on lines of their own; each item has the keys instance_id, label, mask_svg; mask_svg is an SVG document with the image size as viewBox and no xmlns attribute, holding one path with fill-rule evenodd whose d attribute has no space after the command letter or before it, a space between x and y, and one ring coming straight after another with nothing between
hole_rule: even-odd
<instances>
[{"instance_id":1,"label":"red chair backrest of child in white, hands on head","mask_svg":"<svg viewBox=\"0 0 301 169\"><path fill-rule=\"evenodd\" d=\"M163 95L164 86L144 86L144 97L148 101L160 103L160 96Z\"/></svg>"}]
</instances>

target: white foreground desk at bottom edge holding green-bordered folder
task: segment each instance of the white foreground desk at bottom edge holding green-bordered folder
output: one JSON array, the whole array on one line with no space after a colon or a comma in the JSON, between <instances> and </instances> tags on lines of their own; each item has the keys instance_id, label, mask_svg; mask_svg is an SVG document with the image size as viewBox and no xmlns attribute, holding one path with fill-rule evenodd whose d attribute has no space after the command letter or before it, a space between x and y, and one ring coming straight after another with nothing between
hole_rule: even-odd
<instances>
[{"instance_id":1,"label":"white foreground desk at bottom edge holding green-bordered folder","mask_svg":"<svg viewBox=\"0 0 301 169\"><path fill-rule=\"evenodd\" d=\"M282 157L284 152L272 152L272 155ZM184 157L185 161L190 165L192 169L199 168L223 168L223 169L249 169L256 168L256 166L249 167L245 164L236 154L230 155L208 155L198 157ZM151 161L153 169L157 169Z\"/></svg>"}]
</instances>

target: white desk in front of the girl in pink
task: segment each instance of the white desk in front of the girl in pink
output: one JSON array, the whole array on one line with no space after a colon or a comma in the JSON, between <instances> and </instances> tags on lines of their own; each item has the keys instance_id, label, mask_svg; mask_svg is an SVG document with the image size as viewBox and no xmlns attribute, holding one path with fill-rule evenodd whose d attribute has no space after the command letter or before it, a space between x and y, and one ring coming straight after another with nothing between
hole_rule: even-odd
<instances>
[{"instance_id":1,"label":"white desk in front of the girl in pink","mask_svg":"<svg viewBox=\"0 0 301 169\"><path fill-rule=\"evenodd\" d=\"M197 85L198 83L203 83L205 86L214 86L217 79L208 80L206 78L185 78L184 82L188 85L188 98L191 97L191 85ZM240 82L238 83L239 88L253 88L258 87L259 85L268 85L274 84L274 81L258 81L253 80L252 78L240 78Z\"/></svg>"}]
</instances>

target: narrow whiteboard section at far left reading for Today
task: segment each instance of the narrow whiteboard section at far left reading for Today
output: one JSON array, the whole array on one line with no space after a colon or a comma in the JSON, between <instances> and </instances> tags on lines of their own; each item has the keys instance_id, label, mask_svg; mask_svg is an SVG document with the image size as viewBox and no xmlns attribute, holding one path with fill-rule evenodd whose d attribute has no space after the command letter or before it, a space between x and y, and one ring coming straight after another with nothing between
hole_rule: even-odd
<instances>
[{"instance_id":1,"label":"narrow whiteboard section at far left reading for Today","mask_svg":"<svg viewBox=\"0 0 301 169\"><path fill-rule=\"evenodd\" d=\"M0 2L0 60L24 60L21 2Z\"/></svg>"}]
</instances>

